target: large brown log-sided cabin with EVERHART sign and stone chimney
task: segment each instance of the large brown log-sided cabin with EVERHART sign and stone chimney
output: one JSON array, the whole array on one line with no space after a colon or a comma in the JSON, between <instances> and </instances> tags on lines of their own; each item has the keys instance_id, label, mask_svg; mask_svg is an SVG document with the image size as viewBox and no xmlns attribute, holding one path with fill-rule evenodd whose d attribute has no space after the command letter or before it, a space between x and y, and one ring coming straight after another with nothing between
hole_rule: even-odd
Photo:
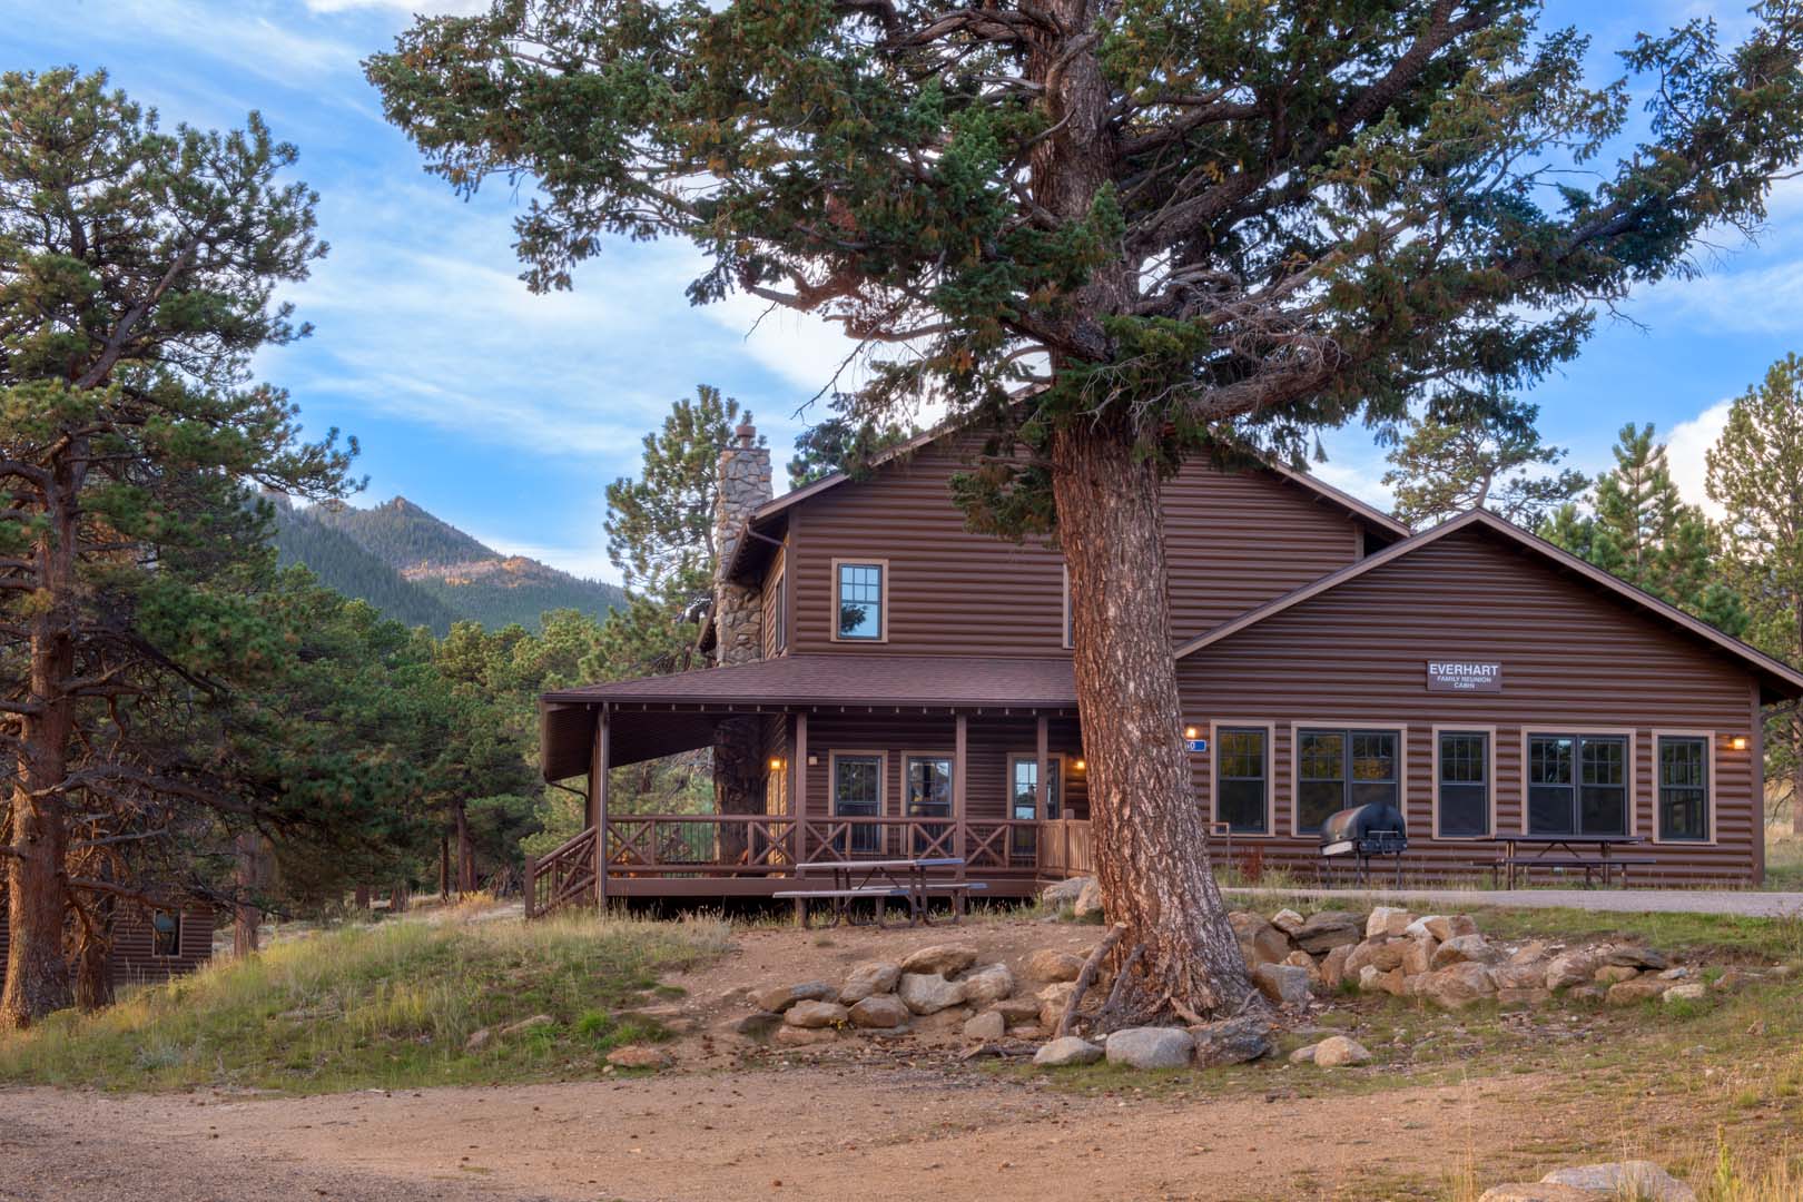
<instances>
[{"instance_id":1,"label":"large brown log-sided cabin with EVERHART sign and stone chimney","mask_svg":"<svg viewBox=\"0 0 1803 1202\"><path fill-rule=\"evenodd\" d=\"M591 784L534 910L768 896L810 860L952 856L990 896L1087 869L1062 557L965 530L966 449L923 436L772 499L739 429L718 667L541 699L546 780ZM1803 696L1794 669L1487 512L1410 533L1277 465L1185 467L1165 542L1217 860L1307 878L1322 820L1381 800L1415 879L1549 831L1641 840L1637 885L1762 879L1762 706ZM755 719L761 813L609 807L606 768L718 748L728 719Z\"/></svg>"}]
</instances>

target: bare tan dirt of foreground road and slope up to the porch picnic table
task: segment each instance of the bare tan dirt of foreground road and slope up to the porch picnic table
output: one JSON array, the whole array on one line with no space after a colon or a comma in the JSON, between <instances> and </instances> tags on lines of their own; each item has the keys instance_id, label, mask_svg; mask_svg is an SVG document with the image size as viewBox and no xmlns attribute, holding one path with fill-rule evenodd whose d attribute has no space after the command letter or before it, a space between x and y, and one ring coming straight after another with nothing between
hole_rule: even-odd
<instances>
[{"instance_id":1,"label":"bare tan dirt of foreground road and slope up to the porch picnic table","mask_svg":"<svg viewBox=\"0 0 1803 1202\"><path fill-rule=\"evenodd\" d=\"M685 989L674 1018L698 1031L673 1047L676 1069L649 1078L299 1099L0 1088L0 1198L1358 1202L1444 1197L1473 1159L1506 1180L1549 1139L1596 1134L1594 1106L1556 1072L1424 1085L1372 1069L1314 1088L1314 1070L1275 1063L1210 1096L965 1063L954 1024L806 1051L719 1033L752 988L838 980L876 955L956 939L1019 966L1098 935L1022 921L746 930L736 952L669 979ZM74 1162L56 1153L72 1130L90 1134Z\"/></svg>"}]
</instances>

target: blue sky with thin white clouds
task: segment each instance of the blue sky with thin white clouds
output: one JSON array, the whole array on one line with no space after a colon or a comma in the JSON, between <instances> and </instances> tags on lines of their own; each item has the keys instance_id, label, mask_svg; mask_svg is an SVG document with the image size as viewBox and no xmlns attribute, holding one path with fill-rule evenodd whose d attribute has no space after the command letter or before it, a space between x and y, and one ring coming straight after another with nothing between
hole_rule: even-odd
<instances>
[{"instance_id":1,"label":"blue sky with thin white clouds","mask_svg":"<svg viewBox=\"0 0 1803 1202\"><path fill-rule=\"evenodd\" d=\"M319 193L330 254L287 290L314 335L267 350L261 378L290 389L308 434L361 443L371 505L406 496L507 553L617 580L604 488L638 469L640 440L698 384L752 409L777 460L822 416L802 411L847 342L745 297L692 308L700 256L678 241L617 241L577 270L575 290L534 296L517 279L512 220L526 193L465 202L426 175L382 119L361 59L388 49L415 9L478 0L0 0L0 68L105 67L164 124L242 126L251 110L301 151L294 178ZM1594 36L1592 74L1639 29L1738 4L1551 0L1547 25ZM1754 243L1729 232L1706 276L1637 292L1601 317L1583 355L1529 395L1549 442L1597 472L1625 422L1655 422L1673 476L1706 503L1704 451L1727 402L1803 350L1803 184L1774 196ZM1325 440L1318 474L1376 505L1383 451L1352 427Z\"/></svg>"}]
</instances>

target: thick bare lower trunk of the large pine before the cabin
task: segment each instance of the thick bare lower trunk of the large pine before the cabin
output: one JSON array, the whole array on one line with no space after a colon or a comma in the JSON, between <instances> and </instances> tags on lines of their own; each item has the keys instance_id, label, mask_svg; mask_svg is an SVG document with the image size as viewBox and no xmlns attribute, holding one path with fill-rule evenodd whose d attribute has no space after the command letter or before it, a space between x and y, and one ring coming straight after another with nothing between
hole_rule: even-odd
<instances>
[{"instance_id":1,"label":"thick bare lower trunk of the large pine before the cabin","mask_svg":"<svg viewBox=\"0 0 1803 1202\"><path fill-rule=\"evenodd\" d=\"M1127 924L1116 959L1145 946L1123 1015L1231 1015L1255 995L1183 746L1158 467L1136 461L1127 433L1094 425L1058 433L1051 461L1096 878L1109 921Z\"/></svg>"}]
</instances>

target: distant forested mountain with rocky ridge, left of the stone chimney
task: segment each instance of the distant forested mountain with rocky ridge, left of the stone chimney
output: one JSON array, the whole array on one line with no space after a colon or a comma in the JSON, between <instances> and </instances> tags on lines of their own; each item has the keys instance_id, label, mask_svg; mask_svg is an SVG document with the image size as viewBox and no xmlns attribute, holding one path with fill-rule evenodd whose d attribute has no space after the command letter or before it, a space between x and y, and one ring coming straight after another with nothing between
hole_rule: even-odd
<instances>
[{"instance_id":1,"label":"distant forested mountain with rocky ridge, left of the stone chimney","mask_svg":"<svg viewBox=\"0 0 1803 1202\"><path fill-rule=\"evenodd\" d=\"M611 584L501 555L406 497L371 508L278 506L276 546L283 562L303 562L341 593L436 633L458 618L535 629L546 609L604 616L626 604Z\"/></svg>"}]
</instances>

